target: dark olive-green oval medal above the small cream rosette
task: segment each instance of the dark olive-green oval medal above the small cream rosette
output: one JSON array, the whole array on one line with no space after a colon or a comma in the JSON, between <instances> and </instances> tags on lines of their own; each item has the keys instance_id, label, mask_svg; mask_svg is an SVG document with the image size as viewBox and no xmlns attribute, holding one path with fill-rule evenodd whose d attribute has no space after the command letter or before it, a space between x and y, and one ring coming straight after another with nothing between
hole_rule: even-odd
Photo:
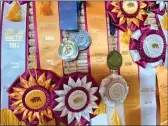
<instances>
[{"instance_id":1,"label":"dark olive-green oval medal above the small cream rosette","mask_svg":"<svg viewBox=\"0 0 168 126\"><path fill-rule=\"evenodd\" d=\"M122 65L122 56L117 51L112 51L107 57L107 65L112 70L117 70Z\"/></svg>"}]
</instances>

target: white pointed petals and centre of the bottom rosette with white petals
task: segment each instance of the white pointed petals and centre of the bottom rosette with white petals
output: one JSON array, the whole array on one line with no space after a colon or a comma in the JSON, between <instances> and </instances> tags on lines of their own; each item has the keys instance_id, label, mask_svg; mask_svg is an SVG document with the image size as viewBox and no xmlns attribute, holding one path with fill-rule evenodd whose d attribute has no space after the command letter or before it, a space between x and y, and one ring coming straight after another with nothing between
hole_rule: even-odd
<instances>
[{"instance_id":1,"label":"white pointed petals and centre of the bottom rosette with white petals","mask_svg":"<svg viewBox=\"0 0 168 126\"><path fill-rule=\"evenodd\" d=\"M68 79L67 84L63 84L62 90L54 90L58 95L55 99L58 104L54 106L53 110L61 112L60 119L67 116L68 125L74 120L80 123L81 120L91 120L91 114L94 109L98 108L98 87L93 87L93 83L87 82L87 76L82 79L78 78L77 81L71 77Z\"/></svg>"}]
</instances>

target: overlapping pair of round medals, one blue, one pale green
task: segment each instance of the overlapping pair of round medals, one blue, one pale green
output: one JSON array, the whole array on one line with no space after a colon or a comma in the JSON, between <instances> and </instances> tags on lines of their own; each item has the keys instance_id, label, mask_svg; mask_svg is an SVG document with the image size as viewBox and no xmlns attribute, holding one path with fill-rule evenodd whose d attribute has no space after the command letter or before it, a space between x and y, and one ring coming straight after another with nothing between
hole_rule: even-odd
<instances>
[{"instance_id":1,"label":"overlapping pair of round medals, one blue, one pale green","mask_svg":"<svg viewBox=\"0 0 168 126\"><path fill-rule=\"evenodd\" d=\"M91 44L90 35L84 30L74 32L71 39L59 47L59 55L64 61L73 61L77 58L79 50L85 50Z\"/></svg>"}]
</instances>

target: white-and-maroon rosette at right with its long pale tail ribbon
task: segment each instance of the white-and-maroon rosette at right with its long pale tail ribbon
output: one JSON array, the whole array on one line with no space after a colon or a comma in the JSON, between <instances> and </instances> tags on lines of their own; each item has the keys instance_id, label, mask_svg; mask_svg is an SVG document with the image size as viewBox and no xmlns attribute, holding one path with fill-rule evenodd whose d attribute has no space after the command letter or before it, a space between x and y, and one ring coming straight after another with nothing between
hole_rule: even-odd
<instances>
[{"instance_id":1,"label":"white-and-maroon rosette at right with its long pale tail ribbon","mask_svg":"<svg viewBox=\"0 0 168 126\"><path fill-rule=\"evenodd\" d=\"M142 125L156 125L156 72L164 63L166 38L156 16L158 28L143 26L131 36L130 54L139 67ZM150 78L150 80L149 80Z\"/></svg>"}]
</instances>

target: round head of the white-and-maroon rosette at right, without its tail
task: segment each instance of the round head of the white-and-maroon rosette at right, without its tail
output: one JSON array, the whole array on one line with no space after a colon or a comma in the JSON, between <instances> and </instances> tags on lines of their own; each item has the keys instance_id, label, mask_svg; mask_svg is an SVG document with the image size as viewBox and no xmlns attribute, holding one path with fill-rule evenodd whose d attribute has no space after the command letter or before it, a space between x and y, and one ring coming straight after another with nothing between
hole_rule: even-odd
<instances>
[{"instance_id":1,"label":"round head of the white-and-maroon rosette at right, without its tail","mask_svg":"<svg viewBox=\"0 0 168 126\"><path fill-rule=\"evenodd\" d=\"M162 30L146 25L135 31L130 40L130 54L133 61L143 68L163 64L166 38Z\"/></svg>"}]
</instances>

